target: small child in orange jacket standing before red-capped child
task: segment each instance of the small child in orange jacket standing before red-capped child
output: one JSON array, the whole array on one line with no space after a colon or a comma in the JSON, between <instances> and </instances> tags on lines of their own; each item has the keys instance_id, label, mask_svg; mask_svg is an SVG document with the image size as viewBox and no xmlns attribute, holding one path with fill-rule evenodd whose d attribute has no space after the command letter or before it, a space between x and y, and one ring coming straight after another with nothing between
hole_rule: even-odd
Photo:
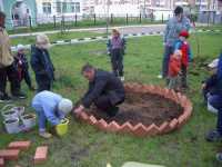
<instances>
[{"instance_id":1,"label":"small child in orange jacket standing before red-capped child","mask_svg":"<svg viewBox=\"0 0 222 167\"><path fill-rule=\"evenodd\" d=\"M181 50L175 50L174 53L170 56L168 71L169 89L180 90L181 57Z\"/></svg>"}]
</instances>

